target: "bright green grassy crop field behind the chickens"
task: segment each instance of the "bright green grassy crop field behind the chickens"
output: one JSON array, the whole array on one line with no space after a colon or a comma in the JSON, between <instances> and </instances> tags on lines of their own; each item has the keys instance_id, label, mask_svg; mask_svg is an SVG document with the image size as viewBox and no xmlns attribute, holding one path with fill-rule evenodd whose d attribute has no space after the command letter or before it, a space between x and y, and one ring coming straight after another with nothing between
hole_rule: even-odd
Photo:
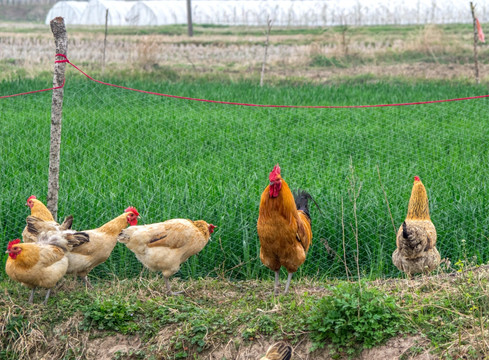
<instances>
[{"instance_id":1,"label":"bright green grassy crop field behind the chickens","mask_svg":"<svg viewBox=\"0 0 489 360\"><path fill-rule=\"evenodd\" d=\"M140 223L184 217L218 226L213 240L182 266L182 277L271 277L258 258L260 194L276 163L291 188L309 191L313 246L296 277L356 273L352 169L363 276L401 276L392 265L413 176L423 180L452 264L489 261L489 124L486 99L366 109L285 109L209 104L145 95L90 82L69 69L63 110L60 218L94 228L129 205ZM256 83L126 82L173 95L260 104L362 105L484 95L485 87L409 82L260 88ZM49 87L49 81L0 83L0 95ZM0 234L20 237L29 195L46 201L51 93L0 99ZM342 205L343 204L343 205ZM343 225L342 225L343 224ZM462 241L465 240L465 241ZM2 257L2 266L6 256ZM124 278L142 266L122 244L92 275ZM0 272L0 279L5 278Z\"/></svg>"}]
</instances>

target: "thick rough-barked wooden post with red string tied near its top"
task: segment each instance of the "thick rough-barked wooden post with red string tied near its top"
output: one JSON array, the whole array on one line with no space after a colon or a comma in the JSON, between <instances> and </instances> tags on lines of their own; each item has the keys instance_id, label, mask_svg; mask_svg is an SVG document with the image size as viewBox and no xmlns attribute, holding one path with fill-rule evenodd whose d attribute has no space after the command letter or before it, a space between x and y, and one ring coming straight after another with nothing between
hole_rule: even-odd
<instances>
[{"instance_id":1,"label":"thick rough-barked wooden post with red string tied near its top","mask_svg":"<svg viewBox=\"0 0 489 360\"><path fill-rule=\"evenodd\" d=\"M65 22L62 17L56 17L50 22L51 31L56 44L56 54L68 53L68 35L66 34ZM63 85L65 81L66 63L54 64L53 87ZM63 112L64 89L53 90L51 104L51 146L49 149L49 179L47 207L53 214L54 219L58 217L58 190L59 190L59 160L61 149L61 116Z\"/></svg>"}]
</instances>

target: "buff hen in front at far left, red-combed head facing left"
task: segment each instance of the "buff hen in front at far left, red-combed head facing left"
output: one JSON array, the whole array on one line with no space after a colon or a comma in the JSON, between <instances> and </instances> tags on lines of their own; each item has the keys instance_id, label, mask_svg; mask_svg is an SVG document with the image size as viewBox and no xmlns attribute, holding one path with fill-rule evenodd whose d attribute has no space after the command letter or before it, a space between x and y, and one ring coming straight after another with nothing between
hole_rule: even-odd
<instances>
[{"instance_id":1,"label":"buff hen in front at far left, red-combed head facing left","mask_svg":"<svg viewBox=\"0 0 489 360\"><path fill-rule=\"evenodd\" d=\"M29 296L31 304L37 287L48 289L44 299L44 305L46 305L51 288L68 269L66 255L87 241L87 234L74 231L44 232L36 243L20 243L20 239L15 239L7 246L8 259L5 264L5 272L12 280L32 289Z\"/></svg>"}]
</instances>

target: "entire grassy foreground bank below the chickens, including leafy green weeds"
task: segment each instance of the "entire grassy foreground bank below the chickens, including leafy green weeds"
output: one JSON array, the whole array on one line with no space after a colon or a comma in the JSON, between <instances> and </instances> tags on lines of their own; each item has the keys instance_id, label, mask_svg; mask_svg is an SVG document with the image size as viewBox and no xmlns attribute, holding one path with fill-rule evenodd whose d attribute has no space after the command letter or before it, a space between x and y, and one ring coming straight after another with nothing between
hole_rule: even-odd
<instances>
[{"instance_id":1,"label":"entire grassy foreground bank below the chickens, including leafy green weeds","mask_svg":"<svg viewBox=\"0 0 489 360\"><path fill-rule=\"evenodd\" d=\"M28 289L2 281L2 358L95 358L116 346L122 358L259 358L279 340L292 344L295 356L345 358L372 347L382 354L399 336L413 339L402 348L403 358L489 353L488 275L481 267L453 276L364 281L361 292L358 283L307 278L278 297L271 294L272 281L202 279L172 286L185 294L168 297L155 277L102 281L90 291L67 278L44 307L27 304Z\"/></svg>"}]
</instances>

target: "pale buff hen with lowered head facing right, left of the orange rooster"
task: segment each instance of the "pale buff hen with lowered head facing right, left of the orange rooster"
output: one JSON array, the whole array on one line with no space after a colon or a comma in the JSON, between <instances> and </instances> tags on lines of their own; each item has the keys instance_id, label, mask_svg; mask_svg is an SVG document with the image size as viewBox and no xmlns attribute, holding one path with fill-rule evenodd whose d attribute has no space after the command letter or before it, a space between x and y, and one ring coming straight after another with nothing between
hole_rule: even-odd
<instances>
[{"instance_id":1,"label":"pale buff hen with lowered head facing right, left of the orange rooster","mask_svg":"<svg viewBox=\"0 0 489 360\"><path fill-rule=\"evenodd\" d=\"M215 226L203 220L172 219L150 225L131 226L117 237L148 269L161 271L168 292L169 278L190 256L200 252Z\"/></svg>"}]
</instances>

